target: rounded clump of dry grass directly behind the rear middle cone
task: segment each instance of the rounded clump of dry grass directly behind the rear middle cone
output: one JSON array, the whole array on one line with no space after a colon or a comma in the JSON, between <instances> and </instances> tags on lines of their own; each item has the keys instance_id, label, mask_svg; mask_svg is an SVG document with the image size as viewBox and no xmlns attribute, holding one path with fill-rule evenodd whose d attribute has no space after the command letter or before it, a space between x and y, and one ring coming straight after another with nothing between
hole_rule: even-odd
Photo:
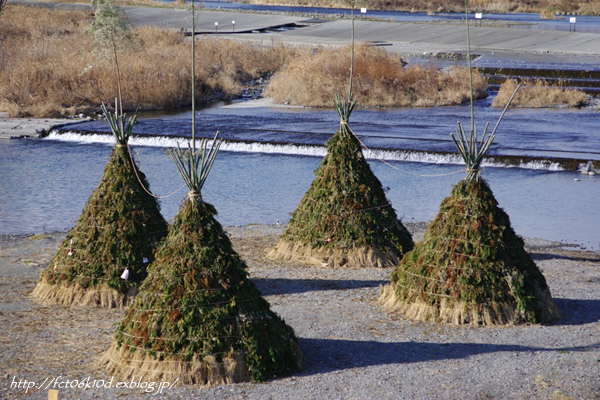
<instances>
[{"instance_id":1,"label":"rounded clump of dry grass directly behind the rear middle cone","mask_svg":"<svg viewBox=\"0 0 600 400\"><path fill-rule=\"evenodd\" d=\"M336 93L348 91L350 50L318 50L292 60L275 74L265 92L276 102L331 107ZM477 98L487 96L485 79L475 72ZM468 69L435 66L404 68L400 56L367 44L356 47L353 92L363 107L430 107L469 98Z\"/></svg>"}]
</instances>

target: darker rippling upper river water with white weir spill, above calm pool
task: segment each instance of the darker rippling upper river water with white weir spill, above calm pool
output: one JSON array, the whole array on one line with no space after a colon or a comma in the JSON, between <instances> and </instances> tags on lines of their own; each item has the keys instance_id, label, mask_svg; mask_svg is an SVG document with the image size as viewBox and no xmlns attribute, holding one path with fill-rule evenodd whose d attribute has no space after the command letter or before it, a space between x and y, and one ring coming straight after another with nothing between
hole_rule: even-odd
<instances>
[{"instance_id":1,"label":"darker rippling upper river water with white weir spill, above calm pool","mask_svg":"<svg viewBox=\"0 0 600 400\"><path fill-rule=\"evenodd\" d=\"M501 110L490 107L493 98L476 103L478 131L495 126ZM251 104L251 103L250 103ZM258 103L261 105L263 103ZM205 109L197 115L196 131L212 138L217 130L228 140L224 149L261 153L323 156L323 145L333 135L339 117L333 110L305 108L225 107ZM174 146L190 135L189 113L142 119L135 143ZM364 145L386 160L461 163L450 133L457 122L469 125L468 106L357 110L352 128ZM466 127L467 129L469 126ZM489 151L487 165L547 170L578 169L588 160L600 160L600 119L590 109L556 108L510 110ZM86 122L51 136L53 139L111 142L104 121ZM100 133L99 137L89 134ZM374 158L375 156L371 154Z\"/></svg>"}]
</instances>

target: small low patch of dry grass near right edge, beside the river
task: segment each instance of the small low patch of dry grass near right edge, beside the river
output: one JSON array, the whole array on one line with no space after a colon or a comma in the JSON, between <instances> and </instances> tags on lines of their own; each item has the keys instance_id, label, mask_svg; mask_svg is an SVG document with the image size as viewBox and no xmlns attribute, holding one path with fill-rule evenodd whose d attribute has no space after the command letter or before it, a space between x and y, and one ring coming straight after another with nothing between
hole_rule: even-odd
<instances>
[{"instance_id":1,"label":"small low patch of dry grass near right edge, beside the river","mask_svg":"<svg viewBox=\"0 0 600 400\"><path fill-rule=\"evenodd\" d=\"M582 107L590 102L589 97L581 90L566 89L539 79L525 80L522 84L523 86L517 92L511 103L511 107ZM492 106L498 108L506 106L517 85L518 82L515 79L506 80L500 86L500 90L492 102Z\"/></svg>"}]
</instances>

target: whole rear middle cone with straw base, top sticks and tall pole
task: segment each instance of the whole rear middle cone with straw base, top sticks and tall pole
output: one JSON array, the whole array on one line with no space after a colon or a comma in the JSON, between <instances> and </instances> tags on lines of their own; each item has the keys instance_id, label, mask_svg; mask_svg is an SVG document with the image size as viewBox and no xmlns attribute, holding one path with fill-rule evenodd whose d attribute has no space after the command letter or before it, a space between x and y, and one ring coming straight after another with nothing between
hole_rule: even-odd
<instances>
[{"instance_id":1,"label":"whole rear middle cone with straw base, top sticks and tall pole","mask_svg":"<svg viewBox=\"0 0 600 400\"><path fill-rule=\"evenodd\" d=\"M381 182L364 158L349 125L356 107L354 75L354 1L348 97L336 94L338 131L327 141L327 155L315 171L279 243L273 259L328 267L388 267L414 243L387 200Z\"/></svg>"}]
</instances>

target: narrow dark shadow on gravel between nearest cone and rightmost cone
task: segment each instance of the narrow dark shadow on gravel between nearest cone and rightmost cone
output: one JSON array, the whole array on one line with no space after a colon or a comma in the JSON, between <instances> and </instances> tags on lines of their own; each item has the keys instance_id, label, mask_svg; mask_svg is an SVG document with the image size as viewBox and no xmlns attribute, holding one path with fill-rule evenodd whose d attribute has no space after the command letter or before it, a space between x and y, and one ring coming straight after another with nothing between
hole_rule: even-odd
<instances>
[{"instance_id":1,"label":"narrow dark shadow on gravel between nearest cone and rightmost cone","mask_svg":"<svg viewBox=\"0 0 600 400\"><path fill-rule=\"evenodd\" d=\"M252 279L263 295L293 294L320 290L347 290L378 287L388 283L386 280L328 280L328 279Z\"/></svg>"}]
</instances>

